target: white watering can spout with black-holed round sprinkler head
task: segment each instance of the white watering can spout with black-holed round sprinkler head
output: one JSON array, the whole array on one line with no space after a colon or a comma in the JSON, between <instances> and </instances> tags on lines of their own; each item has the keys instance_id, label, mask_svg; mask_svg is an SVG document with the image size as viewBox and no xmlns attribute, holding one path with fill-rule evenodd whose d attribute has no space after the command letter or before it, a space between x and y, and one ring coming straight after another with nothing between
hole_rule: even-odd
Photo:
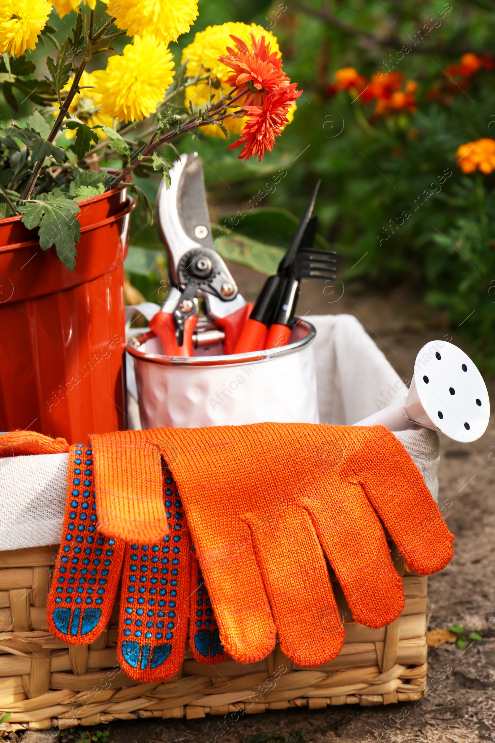
<instances>
[{"instance_id":1,"label":"white watering can spout with black-holed round sprinkler head","mask_svg":"<svg viewBox=\"0 0 495 743\"><path fill-rule=\"evenodd\" d=\"M482 375L453 343L433 340L416 357L407 396L355 426L384 426L404 431L423 426L453 441L476 441L490 420L490 400Z\"/></svg>"}]
</instances>

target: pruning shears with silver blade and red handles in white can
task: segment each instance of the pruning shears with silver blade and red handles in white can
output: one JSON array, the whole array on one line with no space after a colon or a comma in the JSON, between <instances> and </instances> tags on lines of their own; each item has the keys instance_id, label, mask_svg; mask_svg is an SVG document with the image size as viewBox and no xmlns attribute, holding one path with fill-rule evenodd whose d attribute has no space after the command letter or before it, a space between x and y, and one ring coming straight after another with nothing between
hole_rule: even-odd
<instances>
[{"instance_id":1,"label":"pruning shears with silver blade and red handles in white can","mask_svg":"<svg viewBox=\"0 0 495 743\"><path fill-rule=\"evenodd\" d=\"M203 169L197 152L181 155L170 170L171 184L160 186L157 219L168 253L170 292L150 328L160 337L167 356L192 356L198 297L206 300L209 319L223 327L232 345L239 322L247 314L246 299L214 250ZM240 328L239 328L240 332Z\"/></svg>"}]
</instances>

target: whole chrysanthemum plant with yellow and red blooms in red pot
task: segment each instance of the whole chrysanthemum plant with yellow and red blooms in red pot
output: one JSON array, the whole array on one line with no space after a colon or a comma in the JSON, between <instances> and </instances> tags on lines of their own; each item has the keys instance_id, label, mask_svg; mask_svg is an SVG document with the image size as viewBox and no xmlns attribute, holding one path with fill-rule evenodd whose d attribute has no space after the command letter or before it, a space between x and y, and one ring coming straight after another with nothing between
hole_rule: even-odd
<instances>
[{"instance_id":1,"label":"whole chrysanthemum plant with yellow and red blooms in red pot","mask_svg":"<svg viewBox=\"0 0 495 743\"><path fill-rule=\"evenodd\" d=\"M263 27L197 33L180 67L168 44L197 17L194 0L149 4L53 0L74 27L36 77L29 53L56 42L49 0L4 0L4 99L31 114L0 128L0 429L69 441L125 427L123 267L134 170L165 182L184 134L240 134L240 158L263 157L300 95ZM160 12L153 14L159 5ZM121 36L132 36L122 53ZM90 71L102 55L105 69ZM166 149L165 149L166 148ZM168 158L165 157L168 154ZM118 169L101 167L109 155ZM170 159L171 155L171 159Z\"/></svg>"}]
</instances>

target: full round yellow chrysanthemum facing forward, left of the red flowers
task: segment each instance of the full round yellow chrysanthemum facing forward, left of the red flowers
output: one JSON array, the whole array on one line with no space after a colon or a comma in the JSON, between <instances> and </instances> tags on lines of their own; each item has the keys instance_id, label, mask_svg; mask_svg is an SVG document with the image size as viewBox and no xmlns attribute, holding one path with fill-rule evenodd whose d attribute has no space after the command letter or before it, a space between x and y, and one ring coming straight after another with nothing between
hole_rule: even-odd
<instances>
[{"instance_id":1,"label":"full round yellow chrysanthemum facing forward, left of the red flowers","mask_svg":"<svg viewBox=\"0 0 495 743\"><path fill-rule=\"evenodd\" d=\"M111 56L105 71L93 73L102 114L139 121L156 113L174 74L174 59L164 42L134 36L122 56Z\"/></svg>"}]
</instances>

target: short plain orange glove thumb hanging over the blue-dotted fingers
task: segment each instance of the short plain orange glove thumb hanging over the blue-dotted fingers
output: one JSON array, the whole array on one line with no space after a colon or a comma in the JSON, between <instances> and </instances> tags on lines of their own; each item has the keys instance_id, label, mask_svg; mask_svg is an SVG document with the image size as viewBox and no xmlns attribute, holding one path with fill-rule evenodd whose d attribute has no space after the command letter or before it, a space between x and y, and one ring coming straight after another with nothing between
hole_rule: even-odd
<instances>
[{"instance_id":1,"label":"short plain orange glove thumb hanging over the blue-dotted fingers","mask_svg":"<svg viewBox=\"0 0 495 743\"><path fill-rule=\"evenodd\" d=\"M90 436L98 528L124 542L153 545L168 533L160 452L141 431Z\"/></svg>"}]
</instances>

